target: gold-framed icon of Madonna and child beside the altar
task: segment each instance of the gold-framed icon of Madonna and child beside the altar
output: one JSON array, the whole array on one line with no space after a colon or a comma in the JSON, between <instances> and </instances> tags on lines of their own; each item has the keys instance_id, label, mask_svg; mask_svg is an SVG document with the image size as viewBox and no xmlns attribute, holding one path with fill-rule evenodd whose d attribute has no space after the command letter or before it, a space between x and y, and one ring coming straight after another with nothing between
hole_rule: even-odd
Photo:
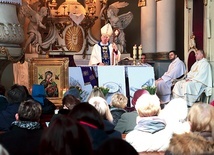
<instances>
[{"instance_id":1,"label":"gold-framed icon of Madonna and child beside the altar","mask_svg":"<svg viewBox=\"0 0 214 155\"><path fill-rule=\"evenodd\" d=\"M29 60L30 92L33 84L43 84L47 98L56 106L61 105L63 90L68 88L68 64L68 58L31 58ZM47 78L51 82L48 83Z\"/></svg>"}]
</instances>

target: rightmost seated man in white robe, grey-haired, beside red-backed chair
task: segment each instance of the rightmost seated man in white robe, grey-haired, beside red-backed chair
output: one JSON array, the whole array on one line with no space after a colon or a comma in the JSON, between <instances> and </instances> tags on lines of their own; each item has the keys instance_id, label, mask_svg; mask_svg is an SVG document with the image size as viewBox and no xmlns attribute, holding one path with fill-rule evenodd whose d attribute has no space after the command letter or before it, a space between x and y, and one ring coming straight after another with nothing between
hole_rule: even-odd
<instances>
[{"instance_id":1,"label":"rightmost seated man in white robe, grey-haired, beside red-backed chair","mask_svg":"<svg viewBox=\"0 0 214 155\"><path fill-rule=\"evenodd\" d=\"M196 62L187 73L186 79L177 82L173 88L173 97L185 99L188 106L192 106L205 89L212 88L211 67L204 58L204 51L197 50L195 58Z\"/></svg>"}]
</instances>

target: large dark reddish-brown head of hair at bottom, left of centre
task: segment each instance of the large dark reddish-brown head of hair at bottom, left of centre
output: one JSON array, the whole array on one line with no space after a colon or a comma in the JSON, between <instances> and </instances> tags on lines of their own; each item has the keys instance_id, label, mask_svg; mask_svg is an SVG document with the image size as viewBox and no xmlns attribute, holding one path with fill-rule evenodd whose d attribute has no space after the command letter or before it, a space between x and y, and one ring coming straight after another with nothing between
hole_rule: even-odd
<instances>
[{"instance_id":1,"label":"large dark reddish-brown head of hair at bottom, left of centre","mask_svg":"<svg viewBox=\"0 0 214 155\"><path fill-rule=\"evenodd\" d=\"M70 117L63 116L44 130L39 154L93 155L93 150L86 130Z\"/></svg>"}]
</instances>

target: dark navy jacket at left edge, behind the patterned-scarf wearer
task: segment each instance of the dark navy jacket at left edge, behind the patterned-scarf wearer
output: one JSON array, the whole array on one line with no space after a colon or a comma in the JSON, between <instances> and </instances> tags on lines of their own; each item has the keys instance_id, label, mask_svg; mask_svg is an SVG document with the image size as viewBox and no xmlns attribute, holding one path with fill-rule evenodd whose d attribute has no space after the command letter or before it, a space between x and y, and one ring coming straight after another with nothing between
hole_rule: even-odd
<instances>
[{"instance_id":1,"label":"dark navy jacket at left edge, behind the patterned-scarf wearer","mask_svg":"<svg viewBox=\"0 0 214 155\"><path fill-rule=\"evenodd\" d=\"M0 131L8 131L11 123L15 121L20 103L9 103L5 110L0 111Z\"/></svg>"}]
</instances>

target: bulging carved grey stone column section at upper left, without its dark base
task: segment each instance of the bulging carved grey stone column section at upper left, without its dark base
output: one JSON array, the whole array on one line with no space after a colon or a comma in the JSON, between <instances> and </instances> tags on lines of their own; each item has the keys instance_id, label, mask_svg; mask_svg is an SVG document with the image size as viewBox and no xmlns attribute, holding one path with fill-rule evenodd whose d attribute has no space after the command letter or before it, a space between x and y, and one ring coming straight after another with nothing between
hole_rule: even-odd
<instances>
[{"instance_id":1,"label":"bulging carved grey stone column section at upper left, without its dark base","mask_svg":"<svg viewBox=\"0 0 214 155\"><path fill-rule=\"evenodd\" d=\"M21 0L0 0L0 57L18 62L24 55L20 44L24 32L17 18L16 5Z\"/></svg>"}]
</instances>

